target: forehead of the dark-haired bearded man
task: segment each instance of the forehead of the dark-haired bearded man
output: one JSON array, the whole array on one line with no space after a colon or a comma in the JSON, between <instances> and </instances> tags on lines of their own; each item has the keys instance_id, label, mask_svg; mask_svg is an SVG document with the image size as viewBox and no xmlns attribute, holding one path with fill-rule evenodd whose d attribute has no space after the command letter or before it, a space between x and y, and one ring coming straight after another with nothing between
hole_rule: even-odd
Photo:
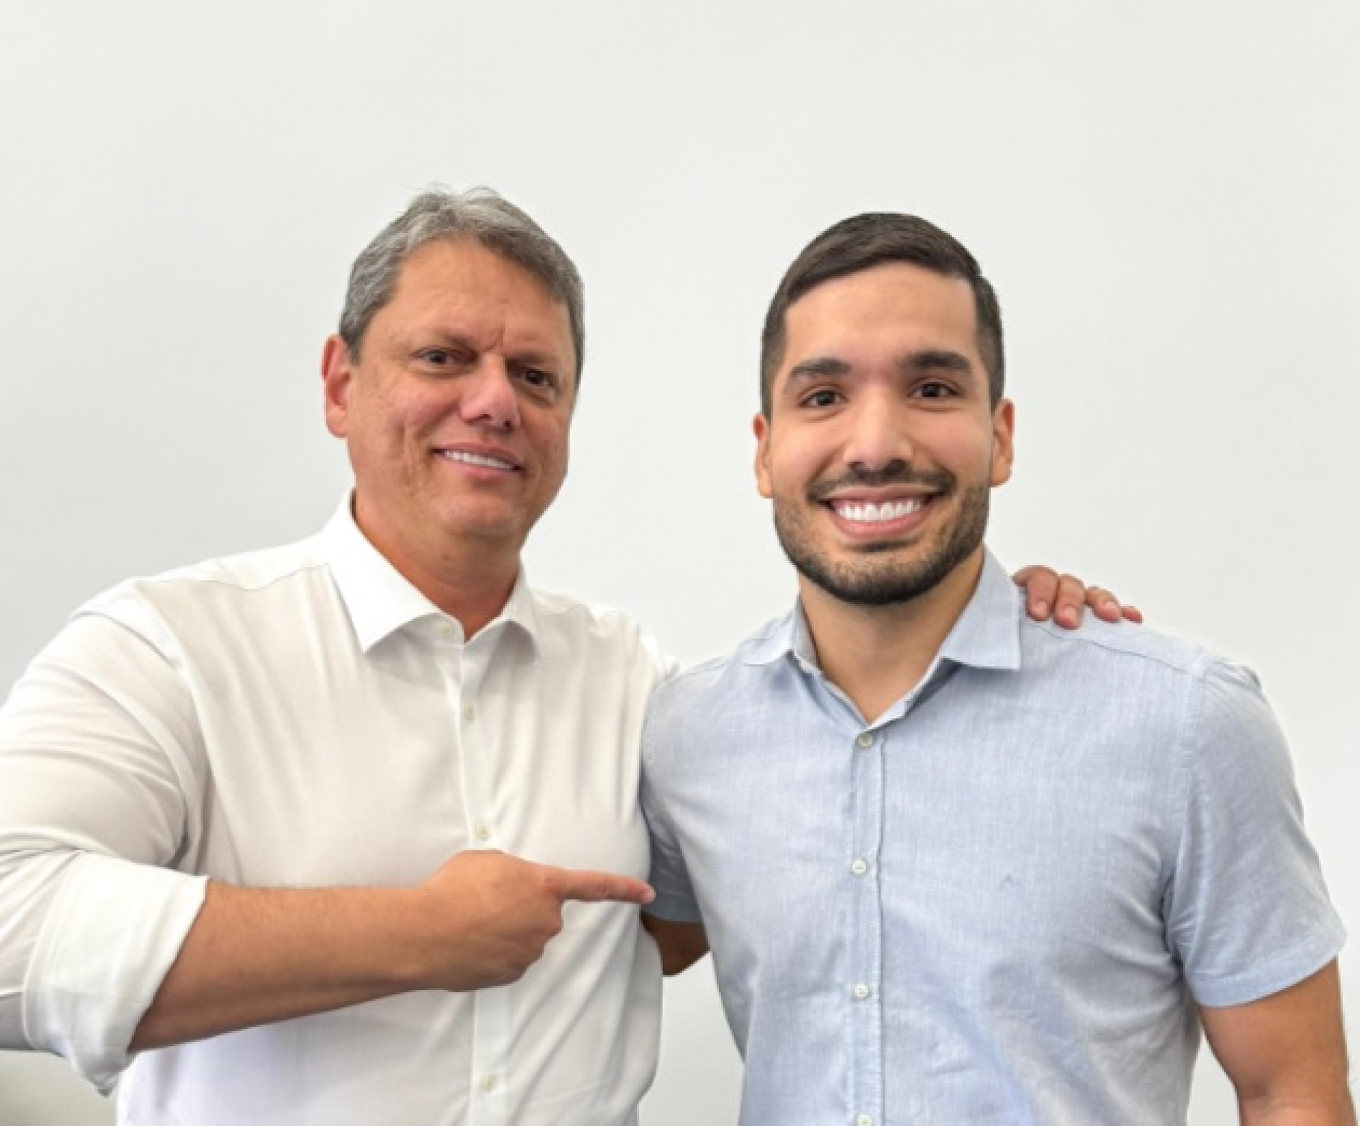
<instances>
[{"instance_id":1,"label":"forehead of the dark-haired bearded man","mask_svg":"<svg viewBox=\"0 0 1360 1126\"><path fill-rule=\"evenodd\" d=\"M972 287L910 262L884 262L823 282L785 314L781 369L813 352L851 359L877 348L947 348L981 366Z\"/></svg>"}]
</instances>

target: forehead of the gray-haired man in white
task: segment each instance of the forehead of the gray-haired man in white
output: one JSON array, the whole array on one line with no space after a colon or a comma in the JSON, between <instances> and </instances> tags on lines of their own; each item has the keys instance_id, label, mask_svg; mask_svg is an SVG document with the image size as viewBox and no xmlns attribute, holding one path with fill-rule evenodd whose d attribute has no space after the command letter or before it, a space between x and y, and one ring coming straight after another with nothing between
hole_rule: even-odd
<instances>
[{"instance_id":1,"label":"forehead of the gray-haired man in white","mask_svg":"<svg viewBox=\"0 0 1360 1126\"><path fill-rule=\"evenodd\" d=\"M473 239L435 239L413 250L370 329L452 333L480 347L551 351L575 364L567 306L529 269Z\"/></svg>"}]
</instances>

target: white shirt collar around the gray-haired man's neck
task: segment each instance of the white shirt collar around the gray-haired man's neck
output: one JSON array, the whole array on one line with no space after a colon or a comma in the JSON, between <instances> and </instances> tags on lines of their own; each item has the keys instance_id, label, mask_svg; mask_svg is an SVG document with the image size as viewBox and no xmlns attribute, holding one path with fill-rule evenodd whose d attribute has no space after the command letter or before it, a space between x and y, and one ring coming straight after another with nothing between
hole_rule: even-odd
<instances>
[{"instance_id":1,"label":"white shirt collar around the gray-haired man's neck","mask_svg":"<svg viewBox=\"0 0 1360 1126\"><path fill-rule=\"evenodd\" d=\"M340 590L340 598L354 623L359 647L364 653L403 627L422 619L450 623L462 641L462 626L458 620L416 590L359 530L354 519L351 494L345 494L336 514L322 530L321 545L336 587ZM520 568L514 589L500 613L483 632L496 631L502 626L514 626L524 632L537 653L539 620L524 567Z\"/></svg>"}]
</instances>

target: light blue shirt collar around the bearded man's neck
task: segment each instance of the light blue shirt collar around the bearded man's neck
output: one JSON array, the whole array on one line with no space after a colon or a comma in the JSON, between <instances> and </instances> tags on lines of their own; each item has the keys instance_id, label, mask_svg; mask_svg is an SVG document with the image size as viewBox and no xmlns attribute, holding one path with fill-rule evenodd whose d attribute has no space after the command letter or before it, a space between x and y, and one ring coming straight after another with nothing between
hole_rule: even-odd
<instances>
[{"instance_id":1,"label":"light blue shirt collar around the bearded man's neck","mask_svg":"<svg viewBox=\"0 0 1360 1126\"><path fill-rule=\"evenodd\" d=\"M978 586L940 646L940 658L979 669L1019 669L1020 600L1005 568L985 551ZM748 665L768 665L785 654L804 668L817 668L801 602L752 639L744 660Z\"/></svg>"}]
</instances>

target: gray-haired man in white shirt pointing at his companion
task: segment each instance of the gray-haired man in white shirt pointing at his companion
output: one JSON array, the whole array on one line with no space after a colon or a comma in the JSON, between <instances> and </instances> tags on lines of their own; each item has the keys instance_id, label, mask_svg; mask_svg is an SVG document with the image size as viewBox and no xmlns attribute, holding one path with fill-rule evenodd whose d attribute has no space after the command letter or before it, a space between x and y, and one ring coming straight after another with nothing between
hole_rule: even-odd
<instances>
[{"instance_id":1,"label":"gray-haired man in white shirt pointing at his companion","mask_svg":"<svg viewBox=\"0 0 1360 1126\"><path fill-rule=\"evenodd\" d=\"M335 517L95 598L0 713L0 1048L121 1076L122 1122L635 1122L668 662L520 563L582 354L574 265L494 193L360 254Z\"/></svg>"}]
</instances>

